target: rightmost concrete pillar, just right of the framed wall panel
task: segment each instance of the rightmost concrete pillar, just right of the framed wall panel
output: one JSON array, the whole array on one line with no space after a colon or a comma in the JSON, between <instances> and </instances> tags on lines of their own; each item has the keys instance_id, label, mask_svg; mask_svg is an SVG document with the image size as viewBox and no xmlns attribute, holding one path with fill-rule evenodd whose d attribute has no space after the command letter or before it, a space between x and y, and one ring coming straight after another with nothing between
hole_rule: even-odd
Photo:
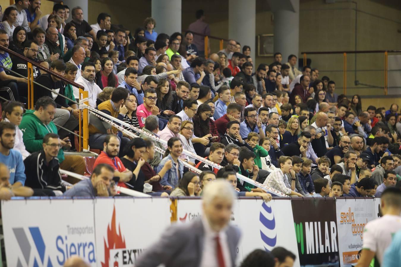
<instances>
[{"instance_id":1,"label":"rightmost concrete pillar, just right of the framed wall panel","mask_svg":"<svg viewBox=\"0 0 401 267\"><path fill-rule=\"evenodd\" d=\"M300 0L267 1L274 15L274 52L282 53L283 63L290 54L299 60Z\"/></svg>"}]
</instances>

